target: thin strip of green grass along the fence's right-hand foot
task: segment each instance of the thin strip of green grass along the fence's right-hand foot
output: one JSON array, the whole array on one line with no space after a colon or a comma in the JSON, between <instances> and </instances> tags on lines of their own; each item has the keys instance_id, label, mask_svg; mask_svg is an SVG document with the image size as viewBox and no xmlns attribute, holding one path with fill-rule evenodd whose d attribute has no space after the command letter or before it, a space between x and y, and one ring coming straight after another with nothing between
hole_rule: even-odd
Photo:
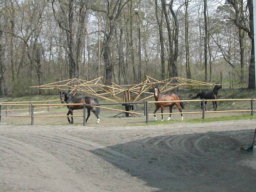
<instances>
[{"instance_id":1,"label":"thin strip of green grass along the fence's right-hand foot","mask_svg":"<svg viewBox=\"0 0 256 192\"><path fill-rule=\"evenodd\" d=\"M175 124L179 122L185 122L185 123L205 123L205 122L215 122L215 121L231 121L231 120L245 120L245 119L256 119L256 116L252 115L234 115L234 116L224 116L224 117L211 117L206 119L185 119L185 120L164 120L164 121L154 121L154 122L148 122L148 124L140 124L141 125L170 125ZM134 126L134 125L133 125Z\"/></svg>"}]
</instances>

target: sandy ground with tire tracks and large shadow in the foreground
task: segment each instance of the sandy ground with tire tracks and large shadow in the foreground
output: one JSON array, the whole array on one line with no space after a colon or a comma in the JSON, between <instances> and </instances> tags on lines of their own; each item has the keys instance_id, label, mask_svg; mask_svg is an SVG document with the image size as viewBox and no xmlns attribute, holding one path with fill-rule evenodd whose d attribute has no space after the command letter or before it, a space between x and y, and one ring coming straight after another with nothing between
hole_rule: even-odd
<instances>
[{"instance_id":1,"label":"sandy ground with tire tracks and large shadow in the foreground","mask_svg":"<svg viewBox=\"0 0 256 192\"><path fill-rule=\"evenodd\" d=\"M0 190L256 191L256 158L239 150L252 144L256 120L149 126L109 115L97 124L92 114L87 126L2 117Z\"/></svg>"}]
</instances>

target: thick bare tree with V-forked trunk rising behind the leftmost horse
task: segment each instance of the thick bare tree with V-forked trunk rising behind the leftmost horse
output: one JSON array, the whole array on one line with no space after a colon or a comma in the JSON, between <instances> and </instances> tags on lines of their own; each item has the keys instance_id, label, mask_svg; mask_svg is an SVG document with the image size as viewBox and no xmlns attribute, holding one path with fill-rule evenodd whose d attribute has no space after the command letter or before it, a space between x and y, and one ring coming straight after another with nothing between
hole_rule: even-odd
<instances>
[{"instance_id":1,"label":"thick bare tree with V-forked trunk rising behind the leftmost horse","mask_svg":"<svg viewBox=\"0 0 256 192\"><path fill-rule=\"evenodd\" d=\"M52 10L58 26L66 32L66 51L69 58L69 76L79 78L82 50L89 15L90 0L52 0ZM56 9L56 10L55 10Z\"/></svg>"}]
</instances>

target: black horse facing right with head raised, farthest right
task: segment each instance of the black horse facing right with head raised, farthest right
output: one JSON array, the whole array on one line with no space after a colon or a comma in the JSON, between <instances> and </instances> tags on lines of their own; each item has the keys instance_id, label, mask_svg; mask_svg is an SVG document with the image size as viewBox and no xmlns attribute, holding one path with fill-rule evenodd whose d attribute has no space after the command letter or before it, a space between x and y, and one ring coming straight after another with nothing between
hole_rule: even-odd
<instances>
[{"instance_id":1,"label":"black horse facing right with head raised, farthest right","mask_svg":"<svg viewBox=\"0 0 256 192\"><path fill-rule=\"evenodd\" d=\"M213 90L211 92L207 92L207 91L202 91L199 92L195 97L192 97L192 99L198 98L200 96L200 99L218 99L218 90L222 89L222 85L221 84L217 84L215 85L215 87L213 88ZM205 109L206 109L206 104L205 103ZM201 110L203 110L203 102L201 102ZM217 109L217 102L213 101L212 102L213 105L213 111L216 111Z\"/></svg>"}]
</instances>

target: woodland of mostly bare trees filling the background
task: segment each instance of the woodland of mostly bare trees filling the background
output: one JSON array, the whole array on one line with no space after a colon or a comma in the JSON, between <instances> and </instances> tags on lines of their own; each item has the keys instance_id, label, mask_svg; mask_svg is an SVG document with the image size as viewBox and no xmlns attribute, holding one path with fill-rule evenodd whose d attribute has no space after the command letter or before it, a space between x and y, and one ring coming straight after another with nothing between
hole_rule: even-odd
<instances>
[{"instance_id":1,"label":"woodland of mostly bare trees filling the background","mask_svg":"<svg viewBox=\"0 0 256 192\"><path fill-rule=\"evenodd\" d=\"M50 94L29 86L73 78L220 74L255 88L252 0L0 1L1 97Z\"/></svg>"}]
</instances>

